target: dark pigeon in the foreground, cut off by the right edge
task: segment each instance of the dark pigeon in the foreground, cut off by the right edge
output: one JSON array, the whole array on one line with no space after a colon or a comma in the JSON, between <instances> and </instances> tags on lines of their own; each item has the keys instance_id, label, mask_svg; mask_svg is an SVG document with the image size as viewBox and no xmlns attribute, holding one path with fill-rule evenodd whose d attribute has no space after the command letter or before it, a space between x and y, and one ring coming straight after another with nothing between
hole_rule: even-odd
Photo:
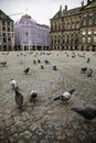
<instances>
[{"instance_id":1,"label":"dark pigeon in the foreground, cut off by the right edge","mask_svg":"<svg viewBox=\"0 0 96 143\"><path fill-rule=\"evenodd\" d=\"M96 109L93 108L72 108L71 110L75 111L76 113L81 114L82 117L88 120L96 118Z\"/></svg>"}]
</instances>

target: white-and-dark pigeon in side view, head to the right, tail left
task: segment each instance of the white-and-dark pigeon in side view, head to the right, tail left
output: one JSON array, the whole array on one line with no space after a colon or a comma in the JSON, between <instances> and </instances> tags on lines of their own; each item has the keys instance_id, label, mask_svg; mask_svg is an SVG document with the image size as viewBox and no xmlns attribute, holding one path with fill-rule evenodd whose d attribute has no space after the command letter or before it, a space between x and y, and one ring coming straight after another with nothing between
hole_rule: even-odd
<instances>
[{"instance_id":1,"label":"white-and-dark pigeon in side view, head to the right, tail left","mask_svg":"<svg viewBox=\"0 0 96 143\"><path fill-rule=\"evenodd\" d=\"M65 91L64 94L62 94L61 96L54 98L53 100L62 100L64 102L67 102L70 100L70 98L72 97L73 92L75 91L75 89L72 89L70 91Z\"/></svg>"}]
</instances>

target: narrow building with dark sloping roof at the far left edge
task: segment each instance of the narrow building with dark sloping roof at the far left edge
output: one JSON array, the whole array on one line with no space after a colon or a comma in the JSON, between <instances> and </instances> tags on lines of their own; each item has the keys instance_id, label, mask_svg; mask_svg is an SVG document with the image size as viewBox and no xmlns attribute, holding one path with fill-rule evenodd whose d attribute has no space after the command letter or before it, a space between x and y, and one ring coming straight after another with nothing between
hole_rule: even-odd
<instances>
[{"instance_id":1,"label":"narrow building with dark sloping roof at the far left edge","mask_svg":"<svg viewBox=\"0 0 96 143\"><path fill-rule=\"evenodd\" d=\"M13 51L13 20L0 10L0 51Z\"/></svg>"}]
</instances>

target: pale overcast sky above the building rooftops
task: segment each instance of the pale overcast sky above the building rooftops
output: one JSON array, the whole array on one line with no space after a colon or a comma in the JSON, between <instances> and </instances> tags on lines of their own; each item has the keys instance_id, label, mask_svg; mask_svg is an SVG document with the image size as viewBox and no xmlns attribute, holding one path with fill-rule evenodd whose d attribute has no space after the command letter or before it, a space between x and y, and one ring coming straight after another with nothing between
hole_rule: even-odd
<instances>
[{"instance_id":1,"label":"pale overcast sky above the building rooftops","mask_svg":"<svg viewBox=\"0 0 96 143\"><path fill-rule=\"evenodd\" d=\"M40 24L50 25L50 19L67 4L67 9L81 7L83 0L0 0L0 9L11 19L19 21L22 14L30 14ZM84 0L86 4L87 0ZM22 14L19 14L22 13Z\"/></svg>"}]
</instances>

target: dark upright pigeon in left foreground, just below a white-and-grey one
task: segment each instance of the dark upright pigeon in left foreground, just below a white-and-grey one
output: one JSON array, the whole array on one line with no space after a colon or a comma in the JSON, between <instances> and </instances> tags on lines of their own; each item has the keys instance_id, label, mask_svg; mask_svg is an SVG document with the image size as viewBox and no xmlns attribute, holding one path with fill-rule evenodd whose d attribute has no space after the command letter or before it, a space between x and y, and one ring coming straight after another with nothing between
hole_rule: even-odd
<instances>
[{"instance_id":1,"label":"dark upright pigeon in left foreground, just below a white-and-grey one","mask_svg":"<svg viewBox=\"0 0 96 143\"><path fill-rule=\"evenodd\" d=\"M18 105L19 109L22 109L23 95L19 90L15 90L15 103Z\"/></svg>"}]
</instances>

